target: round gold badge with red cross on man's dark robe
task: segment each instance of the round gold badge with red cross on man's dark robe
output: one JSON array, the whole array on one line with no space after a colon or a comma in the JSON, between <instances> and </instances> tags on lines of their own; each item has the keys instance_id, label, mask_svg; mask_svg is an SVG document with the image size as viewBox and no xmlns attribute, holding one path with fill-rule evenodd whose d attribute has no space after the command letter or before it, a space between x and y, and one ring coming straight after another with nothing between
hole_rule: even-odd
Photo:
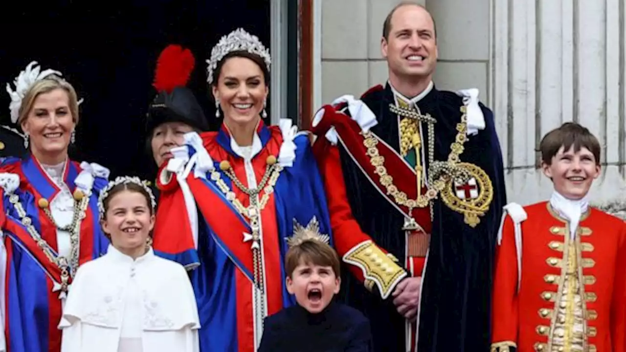
<instances>
[{"instance_id":1,"label":"round gold badge with red cross on man's dark robe","mask_svg":"<svg viewBox=\"0 0 626 352\"><path fill-rule=\"evenodd\" d=\"M493 185L489 175L480 167L459 162L457 168L463 169L468 179L451 178L441 190L441 200L455 212L464 215L464 221L471 227L480 223L478 217L485 215L493 200Z\"/></svg>"}]
</instances>

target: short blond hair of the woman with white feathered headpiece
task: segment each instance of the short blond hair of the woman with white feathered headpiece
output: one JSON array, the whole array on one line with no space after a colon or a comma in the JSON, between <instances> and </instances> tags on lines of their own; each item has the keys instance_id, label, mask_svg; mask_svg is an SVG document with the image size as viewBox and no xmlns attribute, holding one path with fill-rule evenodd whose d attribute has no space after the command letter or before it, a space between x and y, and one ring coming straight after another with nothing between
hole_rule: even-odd
<instances>
[{"instance_id":1,"label":"short blond hair of the woman with white feathered headpiece","mask_svg":"<svg viewBox=\"0 0 626 352\"><path fill-rule=\"evenodd\" d=\"M72 120L78 125L78 95L76 90L68 81L57 75L49 75L43 80L36 81L31 88L26 91L22 99L22 105L18 111L18 125L21 125L28 118L28 113L33 109L35 99L40 94L49 93L56 89L62 89L68 93L69 111L72 114Z\"/></svg>"}]
</instances>

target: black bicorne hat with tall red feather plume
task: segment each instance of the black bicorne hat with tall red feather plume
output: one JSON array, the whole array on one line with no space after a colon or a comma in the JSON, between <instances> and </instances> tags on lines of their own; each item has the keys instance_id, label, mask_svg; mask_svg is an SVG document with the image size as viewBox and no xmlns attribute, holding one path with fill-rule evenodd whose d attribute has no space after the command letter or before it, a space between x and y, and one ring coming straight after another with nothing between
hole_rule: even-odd
<instances>
[{"instance_id":1,"label":"black bicorne hat with tall red feather plume","mask_svg":"<svg viewBox=\"0 0 626 352\"><path fill-rule=\"evenodd\" d=\"M182 122L200 131L208 130L207 118L187 81L195 66L189 49L170 44L156 63L153 86L158 91L148 108L146 134L165 122Z\"/></svg>"}]
</instances>

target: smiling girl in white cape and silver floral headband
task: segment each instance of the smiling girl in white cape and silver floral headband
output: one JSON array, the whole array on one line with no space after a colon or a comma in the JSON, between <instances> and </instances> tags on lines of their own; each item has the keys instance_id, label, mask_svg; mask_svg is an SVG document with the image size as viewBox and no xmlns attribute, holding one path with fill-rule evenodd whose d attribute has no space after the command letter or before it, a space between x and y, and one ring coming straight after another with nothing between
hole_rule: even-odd
<instances>
[{"instance_id":1,"label":"smiling girl in white cape and silver floral headband","mask_svg":"<svg viewBox=\"0 0 626 352\"><path fill-rule=\"evenodd\" d=\"M198 351L187 272L150 247L155 205L137 177L118 177L102 190L100 221L111 244L76 272L59 324L61 352Z\"/></svg>"}]
</instances>

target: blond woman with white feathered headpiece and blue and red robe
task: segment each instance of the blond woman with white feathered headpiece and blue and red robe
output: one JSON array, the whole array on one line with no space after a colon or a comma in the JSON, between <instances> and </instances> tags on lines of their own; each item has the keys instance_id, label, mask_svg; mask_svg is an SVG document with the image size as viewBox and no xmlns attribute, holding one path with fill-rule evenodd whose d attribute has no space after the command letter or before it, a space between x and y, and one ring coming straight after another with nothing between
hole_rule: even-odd
<instances>
[{"instance_id":1,"label":"blond woman with white feathered headpiece and blue and red robe","mask_svg":"<svg viewBox=\"0 0 626 352\"><path fill-rule=\"evenodd\" d=\"M7 87L11 120L30 153L0 167L2 321L9 351L58 352L57 326L76 269L108 246L98 224L98 192L109 171L68 158L79 101L61 73L33 62L14 84L15 90Z\"/></svg>"}]
</instances>

